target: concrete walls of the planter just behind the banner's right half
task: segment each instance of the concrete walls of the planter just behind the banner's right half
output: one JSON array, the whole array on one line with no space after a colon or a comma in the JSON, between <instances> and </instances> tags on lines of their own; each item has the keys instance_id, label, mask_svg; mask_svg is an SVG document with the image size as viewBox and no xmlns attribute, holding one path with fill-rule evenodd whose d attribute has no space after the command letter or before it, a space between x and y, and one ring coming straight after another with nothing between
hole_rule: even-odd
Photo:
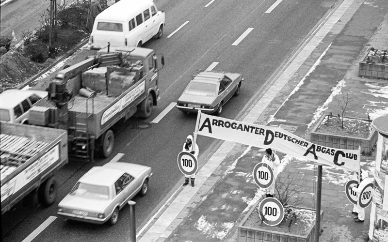
<instances>
[{"instance_id":1,"label":"concrete walls of the planter just behind the banner's right half","mask_svg":"<svg viewBox=\"0 0 388 242\"><path fill-rule=\"evenodd\" d=\"M314 144L337 148L337 149L345 149L345 150L358 150L358 147L361 147L361 154L368 155L372 152L373 146L377 142L377 133L373 129L368 138L360 138L360 137L352 137L352 136L341 136L341 135L333 135L333 134L324 134L319 133L316 130L321 125L323 120L325 120L328 114L324 114L315 127L312 129L310 134L310 141ZM372 122L364 119L352 118L352 117L344 117L347 119L357 119L363 120L367 122Z\"/></svg>"}]
</instances>

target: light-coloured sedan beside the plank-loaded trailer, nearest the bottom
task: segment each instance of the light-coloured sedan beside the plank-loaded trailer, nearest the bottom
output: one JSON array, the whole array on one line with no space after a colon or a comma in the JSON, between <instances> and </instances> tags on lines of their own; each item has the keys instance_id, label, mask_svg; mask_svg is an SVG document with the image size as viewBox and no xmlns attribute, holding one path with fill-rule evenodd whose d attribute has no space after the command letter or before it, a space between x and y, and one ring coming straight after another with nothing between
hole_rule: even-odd
<instances>
[{"instance_id":1,"label":"light-coloured sedan beside the plank-loaded trailer, nearest the bottom","mask_svg":"<svg viewBox=\"0 0 388 242\"><path fill-rule=\"evenodd\" d=\"M136 194L145 196L151 167L109 162L90 169L58 204L57 214L67 219L103 224L117 223L120 209Z\"/></svg>"}]
</instances>

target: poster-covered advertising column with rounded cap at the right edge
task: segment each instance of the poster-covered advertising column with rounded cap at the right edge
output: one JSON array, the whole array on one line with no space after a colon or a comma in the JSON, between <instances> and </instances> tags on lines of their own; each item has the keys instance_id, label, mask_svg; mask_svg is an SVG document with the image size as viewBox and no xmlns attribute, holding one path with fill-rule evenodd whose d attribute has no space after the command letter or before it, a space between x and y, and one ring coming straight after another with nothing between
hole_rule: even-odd
<instances>
[{"instance_id":1,"label":"poster-covered advertising column with rounded cap at the right edge","mask_svg":"<svg viewBox=\"0 0 388 242\"><path fill-rule=\"evenodd\" d=\"M376 146L369 239L388 242L388 115L372 122L379 133Z\"/></svg>"}]
</instances>

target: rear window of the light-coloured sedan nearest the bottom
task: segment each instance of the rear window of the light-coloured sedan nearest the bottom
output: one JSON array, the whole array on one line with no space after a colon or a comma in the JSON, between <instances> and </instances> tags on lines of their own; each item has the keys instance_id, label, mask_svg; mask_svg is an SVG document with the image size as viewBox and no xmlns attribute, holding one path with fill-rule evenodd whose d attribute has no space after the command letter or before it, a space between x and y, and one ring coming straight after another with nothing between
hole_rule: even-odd
<instances>
[{"instance_id":1,"label":"rear window of the light-coloured sedan nearest the bottom","mask_svg":"<svg viewBox=\"0 0 388 242\"><path fill-rule=\"evenodd\" d=\"M109 199L109 187L77 182L70 195L77 197Z\"/></svg>"}]
</instances>

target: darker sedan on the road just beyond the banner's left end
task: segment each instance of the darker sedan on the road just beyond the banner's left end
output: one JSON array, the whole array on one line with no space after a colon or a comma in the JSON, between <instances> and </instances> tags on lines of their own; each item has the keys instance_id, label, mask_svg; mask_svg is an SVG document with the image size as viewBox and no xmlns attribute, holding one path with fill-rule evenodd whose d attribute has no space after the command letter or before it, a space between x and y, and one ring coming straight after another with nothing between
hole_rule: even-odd
<instances>
[{"instance_id":1,"label":"darker sedan on the road just beyond the banner's left end","mask_svg":"<svg viewBox=\"0 0 388 242\"><path fill-rule=\"evenodd\" d=\"M243 80L238 73L200 71L180 95L176 107L183 112L201 110L220 115L226 102L240 94Z\"/></svg>"}]
</instances>

